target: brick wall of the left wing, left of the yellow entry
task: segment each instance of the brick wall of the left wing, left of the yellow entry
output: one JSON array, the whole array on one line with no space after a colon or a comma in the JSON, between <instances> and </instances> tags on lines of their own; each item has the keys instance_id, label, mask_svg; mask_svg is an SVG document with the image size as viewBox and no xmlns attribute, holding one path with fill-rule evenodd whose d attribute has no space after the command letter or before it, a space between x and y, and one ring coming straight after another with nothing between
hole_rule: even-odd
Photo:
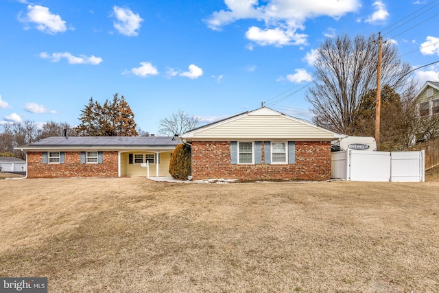
<instances>
[{"instance_id":1,"label":"brick wall of the left wing, left of the yellow entry","mask_svg":"<svg viewBox=\"0 0 439 293\"><path fill-rule=\"evenodd\" d=\"M117 177L117 151L103 152L101 164L82 164L81 152L64 154L63 164L43 164L43 152L27 152L27 177Z\"/></svg>"}]
</instances>

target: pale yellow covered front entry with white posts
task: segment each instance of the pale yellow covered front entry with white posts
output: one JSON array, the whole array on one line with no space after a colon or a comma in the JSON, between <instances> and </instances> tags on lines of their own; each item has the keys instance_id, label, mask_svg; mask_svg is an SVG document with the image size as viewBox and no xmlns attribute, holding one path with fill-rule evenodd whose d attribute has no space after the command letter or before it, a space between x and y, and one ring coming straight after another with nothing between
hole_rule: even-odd
<instances>
[{"instance_id":1,"label":"pale yellow covered front entry with white posts","mask_svg":"<svg viewBox=\"0 0 439 293\"><path fill-rule=\"evenodd\" d=\"M119 152L119 177L121 176L171 176L169 163L172 152Z\"/></svg>"}]
</instances>

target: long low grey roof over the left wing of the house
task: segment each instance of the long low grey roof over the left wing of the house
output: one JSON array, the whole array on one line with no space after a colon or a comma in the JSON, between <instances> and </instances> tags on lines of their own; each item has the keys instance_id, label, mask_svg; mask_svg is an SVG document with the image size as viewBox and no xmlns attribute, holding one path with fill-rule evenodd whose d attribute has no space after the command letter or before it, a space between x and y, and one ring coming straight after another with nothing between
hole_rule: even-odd
<instances>
[{"instance_id":1,"label":"long low grey roof over the left wing of the house","mask_svg":"<svg viewBox=\"0 0 439 293\"><path fill-rule=\"evenodd\" d=\"M174 137L47 137L40 141L23 145L21 148L41 147L175 147L181 141Z\"/></svg>"}]
</instances>

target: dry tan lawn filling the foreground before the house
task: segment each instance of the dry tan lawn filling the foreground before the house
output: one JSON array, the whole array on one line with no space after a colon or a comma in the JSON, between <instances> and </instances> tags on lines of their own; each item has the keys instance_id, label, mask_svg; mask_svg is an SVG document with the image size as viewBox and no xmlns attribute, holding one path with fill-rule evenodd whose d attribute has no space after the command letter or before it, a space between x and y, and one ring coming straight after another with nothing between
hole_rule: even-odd
<instances>
[{"instance_id":1,"label":"dry tan lawn filling the foreground before the house","mask_svg":"<svg viewBox=\"0 0 439 293\"><path fill-rule=\"evenodd\" d=\"M49 292L439 292L432 178L0 180L0 276Z\"/></svg>"}]
</instances>

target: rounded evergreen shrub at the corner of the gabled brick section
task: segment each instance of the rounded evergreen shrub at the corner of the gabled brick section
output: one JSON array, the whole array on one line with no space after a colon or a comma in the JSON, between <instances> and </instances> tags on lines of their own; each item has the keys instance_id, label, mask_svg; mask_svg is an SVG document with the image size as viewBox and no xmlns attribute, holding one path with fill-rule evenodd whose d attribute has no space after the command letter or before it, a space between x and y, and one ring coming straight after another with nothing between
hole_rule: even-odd
<instances>
[{"instance_id":1,"label":"rounded evergreen shrub at the corner of the gabled brick section","mask_svg":"<svg viewBox=\"0 0 439 293\"><path fill-rule=\"evenodd\" d=\"M175 179L187 180L191 175L191 146L177 145L169 163L169 174Z\"/></svg>"}]
</instances>

